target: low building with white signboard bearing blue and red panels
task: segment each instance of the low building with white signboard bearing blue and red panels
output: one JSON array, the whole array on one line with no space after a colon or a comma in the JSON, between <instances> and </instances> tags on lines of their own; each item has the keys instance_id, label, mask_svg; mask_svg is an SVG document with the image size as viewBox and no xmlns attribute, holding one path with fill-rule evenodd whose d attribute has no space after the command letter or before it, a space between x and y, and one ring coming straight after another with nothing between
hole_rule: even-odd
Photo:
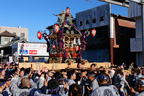
<instances>
[{"instance_id":1,"label":"low building with white signboard bearing blue and red panels","mask_svg":"<svg viewBox=\"0 0 144 96\"><path fill-rule=\"evenodd\" d=\"M3 62L9 61L9 57L14 62L48 62L49 59L46 43L28 42L24 37L11 39L0 50L4 51Z\"/></svg>"}]
</instances>

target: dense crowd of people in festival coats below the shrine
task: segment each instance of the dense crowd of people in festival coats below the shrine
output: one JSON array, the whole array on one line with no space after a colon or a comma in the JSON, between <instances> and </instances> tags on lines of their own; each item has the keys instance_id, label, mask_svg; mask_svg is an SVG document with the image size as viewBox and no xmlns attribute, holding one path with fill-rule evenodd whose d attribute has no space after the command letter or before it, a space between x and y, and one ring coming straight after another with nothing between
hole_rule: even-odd
<instances>
[{"instance_id":1,"label":"dense crowd of people in festival coats below the shrine","mask_svg":"<svg viewBox=\"0 0 144 96\"><path fill-rule=\"evenodd\" d=\"M0 96L144 96L144 68L122 64L48 70L0 65Z\"/></svg>"}]
</instances>

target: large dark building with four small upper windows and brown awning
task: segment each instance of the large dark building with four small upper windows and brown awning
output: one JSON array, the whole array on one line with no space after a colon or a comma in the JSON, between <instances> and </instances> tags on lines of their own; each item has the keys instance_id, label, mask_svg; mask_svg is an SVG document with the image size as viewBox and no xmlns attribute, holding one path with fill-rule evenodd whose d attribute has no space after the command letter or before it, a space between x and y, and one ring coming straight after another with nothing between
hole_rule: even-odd
<instances>
[{"instance_id":1,"label":"large dark building with four small upper windows and brown awning","mask_svg":"<svg viewBox=\"0 0 144 96\"><path fill-rule=\"evenodd\" d=\"M84 59L117 65L135 62L136 55L130 52L130 38L135 37L135 20L112 14L110 4L76 13L76 26L83 32L96 29L96 36L88 37Z\"/></svg>"}]
</instances>

